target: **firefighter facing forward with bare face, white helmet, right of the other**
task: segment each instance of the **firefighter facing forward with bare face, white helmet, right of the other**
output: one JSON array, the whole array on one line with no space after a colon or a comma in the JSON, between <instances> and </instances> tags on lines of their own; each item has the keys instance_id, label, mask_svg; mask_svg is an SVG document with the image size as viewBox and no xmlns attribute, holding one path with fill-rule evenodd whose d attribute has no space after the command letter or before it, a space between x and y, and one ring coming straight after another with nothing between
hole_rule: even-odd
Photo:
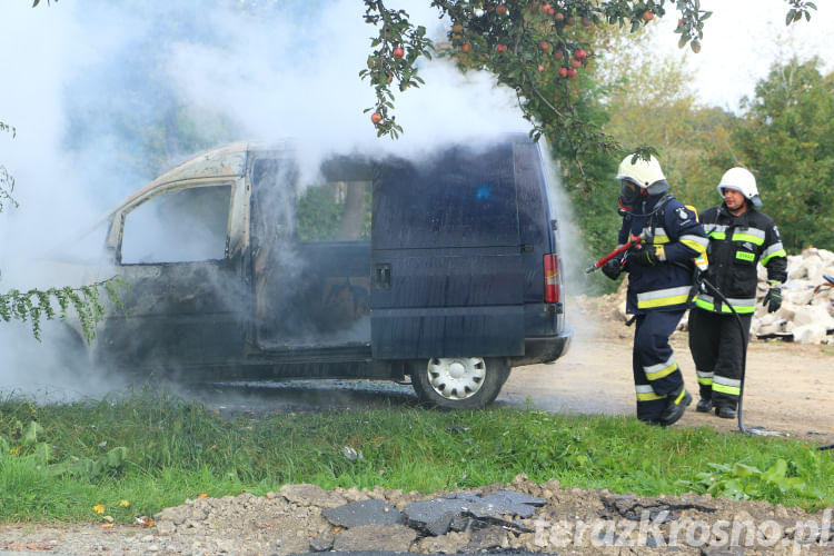
<instances>
[{"instance_id":1,"label":"firefighter facing forward with bare face, white helmet, right of the other","mask_svg":"<svg viewBox=\"0 0 834 556\"><path fill-rule=\"evenodd\" d=\"M787 278L787 255L773 219L759 212L762 206L756 178L744 168L732 168L721 178L719 206L701 215L709 238L706 280L726 298L708 288L698 294L689 311L689 350L695 361L702 413L715 409L718 417L735 417L741 395L744 354L749 325L756 310L756 264L767 269L770 289L764 304L767 312L782 305L780 286ZM741 327L729 302L741 319Z\"/></svg>"}]
</instances>

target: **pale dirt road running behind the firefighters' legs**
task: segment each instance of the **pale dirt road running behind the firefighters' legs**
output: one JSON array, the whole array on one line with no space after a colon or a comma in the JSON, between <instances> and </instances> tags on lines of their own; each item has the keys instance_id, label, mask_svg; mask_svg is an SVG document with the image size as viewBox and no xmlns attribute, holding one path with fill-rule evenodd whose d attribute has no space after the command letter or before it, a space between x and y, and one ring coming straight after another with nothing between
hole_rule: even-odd
<instances>
[{"instance_id":1,"label":"pale dirt road running behind the firefighters' legs","mask_svg":"<svg viewBox=\"0 0 834 556\"><path fill-rule=\"evenodd\" d=\"M529 398L536 408L546 410L634 415L634 329L597 311L573 308L569 316L575 336L568 354L553 365L514 369L498 401L516 405ZM686 386L695 393L695 365L687 341L685 331L672 337ZM834 345L754 339L747 353L746 377L746 428L762 427L815 444L834 441ZM679 423L738 429L735 419L699 414L694 404Z\"/></svg>"}]
</instances>

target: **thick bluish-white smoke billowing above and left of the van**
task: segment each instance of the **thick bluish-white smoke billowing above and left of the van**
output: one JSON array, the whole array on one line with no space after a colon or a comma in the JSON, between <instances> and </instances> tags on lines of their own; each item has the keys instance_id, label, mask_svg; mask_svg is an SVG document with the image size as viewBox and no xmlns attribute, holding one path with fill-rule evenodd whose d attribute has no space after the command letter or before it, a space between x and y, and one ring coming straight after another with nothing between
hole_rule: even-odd
<instances>
[{"instance_id":1,"label":"thick bluish-white smoke billowing above and left of the van","mask_svg":"<svg viewBox=\"0 0 834 556\"><path fill-rule=\"evenodd\" d=\"M429 2L388 3L441 40L449 23ZM0 135L0 163L16 178L20 207L0 214L0 290L109 277L101 266L41 262L71 250L89 261L103 228L86 242L79 232L216 145L292 138L312 158L355 148L409 155L529 129L513 91L434 60L420 68L426 85L396 100L405 133L376 137L363 112L374 91L358 77L376 33L363 10L356 0L2 2L0 121L17 137ZM0 324L0 390L96 395L112 386L81 387L61 344L38 344L27 325Z\"/></svg>"}]
</instances>

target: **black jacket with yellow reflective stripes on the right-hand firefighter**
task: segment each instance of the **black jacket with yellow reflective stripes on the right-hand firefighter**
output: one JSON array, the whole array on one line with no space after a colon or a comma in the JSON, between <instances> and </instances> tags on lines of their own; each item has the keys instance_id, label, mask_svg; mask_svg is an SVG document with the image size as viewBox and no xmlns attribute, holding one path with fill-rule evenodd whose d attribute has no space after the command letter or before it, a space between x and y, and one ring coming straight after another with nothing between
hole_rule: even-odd
<instances>
[{"instance_id":1,"label":"black jacket with yellow reflective stripes on the right-hand firefighter","mask_svg":"<svg viewBox=\"0 0 834 556\"><path fill-rule=\"evenodd\" d=\"M787 279L787 254L773 219L749 202L741 216L733 216L726 205L706 209L701 222L709 238L707 280L715 286L738 314L756 310L756 262L767 269L767 279ZM715 312L731 312L719 297L698 294L695 306Z\"/></svg>"}]
</instances>

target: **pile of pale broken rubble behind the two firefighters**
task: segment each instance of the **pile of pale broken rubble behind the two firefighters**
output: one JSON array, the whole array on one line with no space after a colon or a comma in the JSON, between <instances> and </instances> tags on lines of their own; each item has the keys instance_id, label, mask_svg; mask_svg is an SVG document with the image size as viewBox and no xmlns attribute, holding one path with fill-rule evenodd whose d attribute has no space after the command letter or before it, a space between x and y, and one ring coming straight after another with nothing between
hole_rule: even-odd
<instances>
[{"instance_id":1,"label":"pile of pale broken rubble behind the two firefighters","mask_svg":"<svg viewBox=\"0 0 834 556\"><path fill-rule=\"evenodd\" d=\"M787 257L787 281L782 286L783 302L776 312L767 312L762 305L770 288L767 270L758 266L758 288L756 312L751 322L751 338L781 338L801 344L834 344L834 285L825 276L834 277L834 252L810 247L800 255ZM596 306L616 307L608 315L618 320L627 320L627 278L615 294L598 298L590 304L578 299L580 310ZM687 330L688 314L684 315L678 330Z\"/></svg>"}]
</instances>

